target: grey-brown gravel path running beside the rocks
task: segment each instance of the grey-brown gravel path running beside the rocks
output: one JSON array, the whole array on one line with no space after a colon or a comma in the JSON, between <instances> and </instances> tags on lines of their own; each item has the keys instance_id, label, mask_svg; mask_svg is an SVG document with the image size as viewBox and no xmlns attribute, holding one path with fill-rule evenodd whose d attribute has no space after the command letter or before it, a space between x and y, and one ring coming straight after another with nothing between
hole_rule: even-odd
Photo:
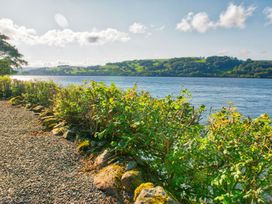
<instances>
[{"instance_id":1,"label":"grey-brown gravel path running beside the rocks","mask_svg":"<svg viewBox=\"0 0 272 204\"><path fill-rule=\"evenodd\" d=\"M114 203L80 173L75 146L0 101L0 203Z\"/></svg>"}]
</instances>

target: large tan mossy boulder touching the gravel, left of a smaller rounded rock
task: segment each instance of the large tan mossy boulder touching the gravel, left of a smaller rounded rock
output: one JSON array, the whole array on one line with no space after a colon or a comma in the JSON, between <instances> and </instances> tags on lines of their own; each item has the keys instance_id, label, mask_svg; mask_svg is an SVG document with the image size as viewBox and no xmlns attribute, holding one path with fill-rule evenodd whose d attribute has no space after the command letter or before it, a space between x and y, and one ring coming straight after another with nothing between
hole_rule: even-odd
<instances>
[{"instance_id":1,"label":"large tan mossy boulder touching the gravel, left of a smaller rounded rock","mask_svg":"<svg viewBox=\"0 0 272 204\"><path fill-rule=\"evenodd\" d=\"M121 176L124 172L124 167L118 164L111 164L101 169L94 176L95 186L105 193L118 196L121 189Z\"/></svg>"}]
</instances>

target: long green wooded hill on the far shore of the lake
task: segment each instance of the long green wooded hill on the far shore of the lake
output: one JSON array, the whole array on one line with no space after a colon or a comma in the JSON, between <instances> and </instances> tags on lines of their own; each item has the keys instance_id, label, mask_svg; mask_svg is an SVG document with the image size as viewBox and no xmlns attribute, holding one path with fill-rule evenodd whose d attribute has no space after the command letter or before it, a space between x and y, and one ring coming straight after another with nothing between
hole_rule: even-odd
<instances>
[{"instance_id":1,"label":"long green wooded hill on the far shore of the lake","mask_svg":"<svg viewBox=\"0 0 272 204\"><path fill-rule=\"evenodd\" d=\"M88 67L62 65L26 70L22 74L272 78L272 61L244 61L227 56L182 57L132 60Z\"/></svg>"}]
</instances>

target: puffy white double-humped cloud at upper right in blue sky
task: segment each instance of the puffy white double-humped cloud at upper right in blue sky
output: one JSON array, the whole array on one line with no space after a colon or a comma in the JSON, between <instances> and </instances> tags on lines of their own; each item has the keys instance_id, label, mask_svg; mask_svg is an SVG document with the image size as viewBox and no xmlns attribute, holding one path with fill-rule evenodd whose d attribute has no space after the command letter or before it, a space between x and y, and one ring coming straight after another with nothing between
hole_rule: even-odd
<instances>
[{"instance_id":1,"label":"puffy white double-humped cloud at upper right in blue sky","mask_svg":"<svg viewBox=\"0 0 272 204\"><path fill-rule=\"evenodd\" d=\"M219 19L214 22L211 21L208 14L205 12L199 12L194 14L193 12L188 13L181 21L177 24L176 29L182 32L197 31L205 33L209 29L216 28L244 28L245 22L249 16L254 12L255 8L249 6L247 8L242 5L230 4L226 11L220 14Z\"/></svg>"}]
</instances>

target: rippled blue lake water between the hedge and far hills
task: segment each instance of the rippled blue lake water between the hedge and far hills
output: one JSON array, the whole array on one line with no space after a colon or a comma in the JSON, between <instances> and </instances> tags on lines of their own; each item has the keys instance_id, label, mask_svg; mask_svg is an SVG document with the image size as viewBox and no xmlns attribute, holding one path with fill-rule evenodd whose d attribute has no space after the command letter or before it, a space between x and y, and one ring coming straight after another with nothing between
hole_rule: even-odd
<instances>
[{"instance_id":1,"label":"rippled blue lake water between the hedge and far hills","mask_svg":"<svg viewBox=\"0 0 272 204\"><path fill-rule=\"evenodd\" d=\"M82 84L86 80L115 83L120 88L149 91L154 97L176 96L183 89L192 94L192 103L204 104L207 112L233 103L246 116L272 116L272 79L190 78L190 77L121 77L121 76L13 76L20 80L53 80L63 86ZM207 113L206 113L207 114Z\"/></svg>"}]
</instances>

